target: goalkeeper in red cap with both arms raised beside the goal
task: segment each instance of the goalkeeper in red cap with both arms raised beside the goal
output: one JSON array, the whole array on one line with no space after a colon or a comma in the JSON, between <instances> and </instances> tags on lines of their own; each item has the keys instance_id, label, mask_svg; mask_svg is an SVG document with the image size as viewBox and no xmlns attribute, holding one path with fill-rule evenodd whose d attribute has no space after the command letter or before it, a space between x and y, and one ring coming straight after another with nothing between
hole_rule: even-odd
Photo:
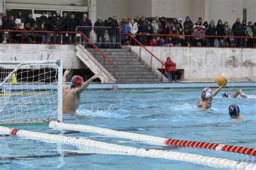
<instances>
[{"instance_id":1,"label":"goalkeeper in red cap with both arms raised beside the goal","mask_svg":"<svg viewBox=\"0 0 256 170\"><path fill-rule=\"evenodd\" d=\"M69 74L70 70L66 70L63 74L63 113L74 114L80 104L80 94L89 86L92 80L99 78L103 75L103 72L95 74L89 80L83 82L83 78L80 76L74 76L71 81L72 85L69 88L66 85L66 76Z\"/></svg>"}]
</instances>

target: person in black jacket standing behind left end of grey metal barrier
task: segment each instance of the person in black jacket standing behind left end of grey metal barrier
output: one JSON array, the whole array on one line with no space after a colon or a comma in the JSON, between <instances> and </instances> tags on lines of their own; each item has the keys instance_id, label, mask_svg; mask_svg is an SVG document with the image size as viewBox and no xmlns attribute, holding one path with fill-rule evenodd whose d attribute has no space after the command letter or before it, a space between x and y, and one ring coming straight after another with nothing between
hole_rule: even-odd
<instances>
[{"instance_id":1,"label":"person in black jacket standing behind left end of grey metal barrier","mask_svg":"<svg viewBox=\"0 0 256 170\"><path fill-rule=\"evenodd\" d=\"M82 28L79 28L79 31L83 32L84 35L90 39L90 32L92 30L92 22L90 19L87 18L87 14L84 13L83 19L80 19L78 26L83 26ZM83 36L81 36L82 42L84 41ZM87 42L85 40L85 42Z\"/></svg>"}]
</instances>

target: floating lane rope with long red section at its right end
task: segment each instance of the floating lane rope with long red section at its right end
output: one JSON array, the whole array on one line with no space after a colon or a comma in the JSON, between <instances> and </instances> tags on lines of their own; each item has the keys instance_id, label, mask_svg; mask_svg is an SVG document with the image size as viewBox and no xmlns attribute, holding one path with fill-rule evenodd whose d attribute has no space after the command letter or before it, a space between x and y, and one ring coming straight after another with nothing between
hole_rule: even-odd
<instances>
[{"instance_id":1,"label":"floating lane rope with long red section at its right end","mask_svg":"<svg viewBox=\"0 0 256 170\"><path fill-rule=\"evenodd\" d=\"M58 121L51 121L49 123L50 128L58 128L61 130L73 130L80 132L92 132L103 135L109 135L111 137L132 139L137 141L146 141L150 144L154 145L172 145L178 147L197 147L197 148L205 148L205 149L214 149L216 151L227 151L227 152L235 152L242 153L247 155L256 156L256 149L241 147L241 146L232 146L232 145L223 145L223 144L213 144L207 142L199 142L199 141L188 141L188 140L177 140L177 139L168 139L168 138L160 138L154 137L151 135L123 132L123 131L115 131L102 127L94 127L87 125L78 125L78 124L64 124L59 123Z\"/></svg>"}]
</instances>

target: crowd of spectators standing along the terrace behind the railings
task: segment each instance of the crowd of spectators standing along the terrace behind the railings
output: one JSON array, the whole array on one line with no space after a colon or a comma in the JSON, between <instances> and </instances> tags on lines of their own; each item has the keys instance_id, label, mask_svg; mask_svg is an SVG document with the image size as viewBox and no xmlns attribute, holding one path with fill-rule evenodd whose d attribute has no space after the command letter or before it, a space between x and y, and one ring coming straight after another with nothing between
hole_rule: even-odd
<instances>
[{"instance_id":1,"label":"crowd of spectators standing along the terrace behind the railings","mask_svg":"<svg viewBox=\"0 0 256 170\"><path fill-rule=\"evenodd\" d=\"M131 33L143 45L152 46L211 46L211 47L255 47L256 39L256 22L240 22L237 18L235 23L231 26L227 22L218 20L215 24L211 19L208 24L203 22L199 17L196 23L193 23L190 16L185 17L185 21L179 18L166 19L165 17L146 19L144 16L136 18L123 17L121 22L117 22L117 17L109 17L104 21L98 16L94 25L87 15L77 21L76 16L72 14L68 16L67 13L57 11L55 16L48 12L48 17L45 13L35 21L32 18L32 13L23 17L22 12L19 11L17 16L6 16L6 13L0 14L0 30L27 30L27 31L55 31L56 33L35 33L35 32L12 32L11 39L15 43L21 43L22 38L24 43L75 43L75 33L58 33L58 31L76 31L77 26L89 26L83 33L90 38L90 32L96 34L96 43L99 42L120 42L121 45L129 44L135 45L134 39L129 41L128 35L119 35L121 33ZM93 28L95 26L95 28ZM112 28L114 31L104 29L104 27ZM107 30L107 31L106 31ZM106 36L109 39L106 40ZM120 36L120 39L118 38ZM215 37L205 37L215 36ZM217 37L222 36L222 37ZM231 36L231 37L230 37ZM246 38L233 38L246 37ZM4 32L0 32L0 43L4 42ZM112 44L113 45L113 44ZM110 46L111 47L111 46ZM113 45L112 47L115 47Z\"/></svg>"}]
</instances>

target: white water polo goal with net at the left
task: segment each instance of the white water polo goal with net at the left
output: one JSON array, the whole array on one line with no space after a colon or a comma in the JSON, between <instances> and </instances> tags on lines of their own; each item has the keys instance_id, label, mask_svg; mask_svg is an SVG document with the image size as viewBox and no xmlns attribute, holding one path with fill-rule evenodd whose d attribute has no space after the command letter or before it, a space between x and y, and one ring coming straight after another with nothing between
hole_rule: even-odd
<instances>
[{"instance_id":1,"label":"white water polo goal with net at the left","mask_svg":"<svg viewBox=\"0 0 256 170\"><path fill-rule=\"evenodd\" d=\"M0 61L0 123L62 121L62 60Z\"/></svg>"}]
</instances>

